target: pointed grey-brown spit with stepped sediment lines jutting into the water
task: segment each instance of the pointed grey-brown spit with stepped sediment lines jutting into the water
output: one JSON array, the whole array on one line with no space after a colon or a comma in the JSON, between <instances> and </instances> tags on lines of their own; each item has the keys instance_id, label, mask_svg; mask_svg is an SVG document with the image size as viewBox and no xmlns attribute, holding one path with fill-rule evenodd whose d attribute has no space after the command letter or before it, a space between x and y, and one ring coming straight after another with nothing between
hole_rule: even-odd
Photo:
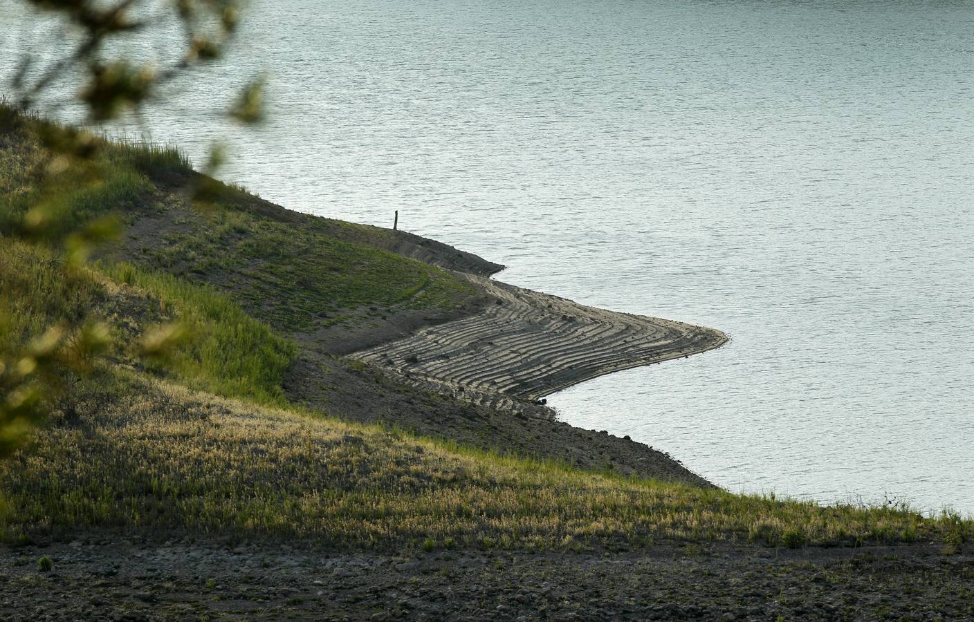
<instances>
[{"instance_id":1,"label":"pointed grey-brown spit with stepped sediment lines jutting into the water","mask_svg":"<svg viewBox=\"0 0 974 622\"><path fill-rule=\"evenodd\" d=\"M484 287L497 304L352 356L414 385L510 408L596 376L718 348L728 339L702 326L458 275Z\"/></svg>"}]
</instances>

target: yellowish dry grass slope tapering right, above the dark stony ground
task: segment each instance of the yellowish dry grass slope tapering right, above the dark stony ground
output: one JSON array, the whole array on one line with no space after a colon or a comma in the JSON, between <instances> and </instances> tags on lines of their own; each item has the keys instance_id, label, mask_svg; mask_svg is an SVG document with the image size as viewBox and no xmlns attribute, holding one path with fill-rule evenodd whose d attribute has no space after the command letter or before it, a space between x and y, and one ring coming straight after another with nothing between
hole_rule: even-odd
<instances>
[{"instance_id":1,"label":"yellowish dry grass slope tapering right, above the dark stony ground","mask_svg":"<svg viewBox=\"0 0 974 622\"><path fill-rule=\"evenodd\" d=\"M344 547L618 548L948 543L969 522L579 471L131 375L0 466L13 531L79 527L302 538Z\"/></svg>"}]
</instances>

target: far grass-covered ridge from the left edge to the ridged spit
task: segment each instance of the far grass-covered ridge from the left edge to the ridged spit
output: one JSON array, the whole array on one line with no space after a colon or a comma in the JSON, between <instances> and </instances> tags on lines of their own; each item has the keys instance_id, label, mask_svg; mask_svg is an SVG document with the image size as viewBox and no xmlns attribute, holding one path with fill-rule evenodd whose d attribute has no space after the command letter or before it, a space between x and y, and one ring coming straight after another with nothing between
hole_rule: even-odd
<instances>
[{"instance_id":1,"label":"far grass-covered ridge from the left edge to the ridged spit","mask_svg":"<svg viewBox=\"0 0 974 622\"><path fill-rule=\"evenodd\" d=\"M456 311L478 293L368 243L388 234L288 212L198 175L174 146L93 137L93 158L53 156L48 145L65 131L0 106L0 234L39 215L48 236L116 216L123 235L113 259L209 283L284 331ZM56 183L38 183L52 171Z\"/></svg>"}]
</instances>

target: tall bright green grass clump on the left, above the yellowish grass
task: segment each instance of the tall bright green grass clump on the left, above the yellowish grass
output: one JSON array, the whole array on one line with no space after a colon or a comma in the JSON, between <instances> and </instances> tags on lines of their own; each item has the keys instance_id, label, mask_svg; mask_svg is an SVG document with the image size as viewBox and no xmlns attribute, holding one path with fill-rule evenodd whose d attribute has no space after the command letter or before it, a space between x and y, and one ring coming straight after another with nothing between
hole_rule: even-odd
<instances>
[{"instance_id":1,"label":"tall bright green grass clump on the left, above the yellowish grass","mask_svg":"<svg viewBox=\"0 0 974 622\"><path fill-rule=\"evenodd\" d=\"M281 379L294 345L225 294L126 264L69 270L54 249L0 242L0 353L13 356L52 325L99 318L115 332L116 361L220 395L285 403ZM147 330L170 322L188 339L165 361L133 355Z\"/></svg>"}]
</instances>

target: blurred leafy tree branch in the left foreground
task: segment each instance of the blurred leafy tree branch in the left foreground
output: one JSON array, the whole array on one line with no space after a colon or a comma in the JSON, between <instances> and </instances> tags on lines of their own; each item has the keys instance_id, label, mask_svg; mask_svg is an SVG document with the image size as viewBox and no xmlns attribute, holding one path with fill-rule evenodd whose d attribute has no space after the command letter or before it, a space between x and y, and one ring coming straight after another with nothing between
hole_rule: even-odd
<instances>
[{"instance_id":1,"label":"blurred leafy tree branch in the left foreground","mask_svg":"<svg viewBox=\"0 0 974 622\"><path fill-rule=\"evenodd\" d=\"M36 56L46 41L32 42L37 49L25 55L11 80L13 97L0 100L0 137L13 132L23 115L43 117L50 109L67 103L80 103L87 114L88 125L116 120L126 111L136 115L161 100L162 87L189 74L195 67L211 63L225 54L234 39L241 17L236 0L175 0L159 5L162 13L156 19L133 17L141 6L138 0L21 0L34 10L59 18L65 27L80 30L80 42L56 58L50 66L35 71ZM168 66L157 69L151 63L136 62L124 53L113 53L112 41L127 37L169 37L162 25L166 19L180 24L179 55ZM155 30L154 30L155 29ZM78 80L84 87L72 97L48 102L49 110L38 109L44 95L61 79ZM236 96L225 113L244 124L263 118L263 82L255 80ZM89 186L103 180L92 163L104 141L78 125L44 126L43 146L52 158L45 167L39 184L37 204L26 211L20 226L0 231L0 238L11 236L32 243L44 243L61 249L62 277L71 278L87 261L92 249L111 238L118 223L100 218L65 230L57 222L58 213L45 204L45 187L70 181ZM210 163L219 160L210 156ZM206 172L211 172L207 165ZM0 270L4 268L0 262ZM2 274L0 274L2 276ZM0 316L0 339L8 339ZM150 330L139 348L143 355L165 358L166 348L183 336L178 325ZM30 427L40 421L52 404L70 391L69 379L90 373L98 356L110 346L106 325L95 318L82 321L56 322L30 343L0 343L0 457L8 456L21 444Z\"/></svg>"}]
</instances>

